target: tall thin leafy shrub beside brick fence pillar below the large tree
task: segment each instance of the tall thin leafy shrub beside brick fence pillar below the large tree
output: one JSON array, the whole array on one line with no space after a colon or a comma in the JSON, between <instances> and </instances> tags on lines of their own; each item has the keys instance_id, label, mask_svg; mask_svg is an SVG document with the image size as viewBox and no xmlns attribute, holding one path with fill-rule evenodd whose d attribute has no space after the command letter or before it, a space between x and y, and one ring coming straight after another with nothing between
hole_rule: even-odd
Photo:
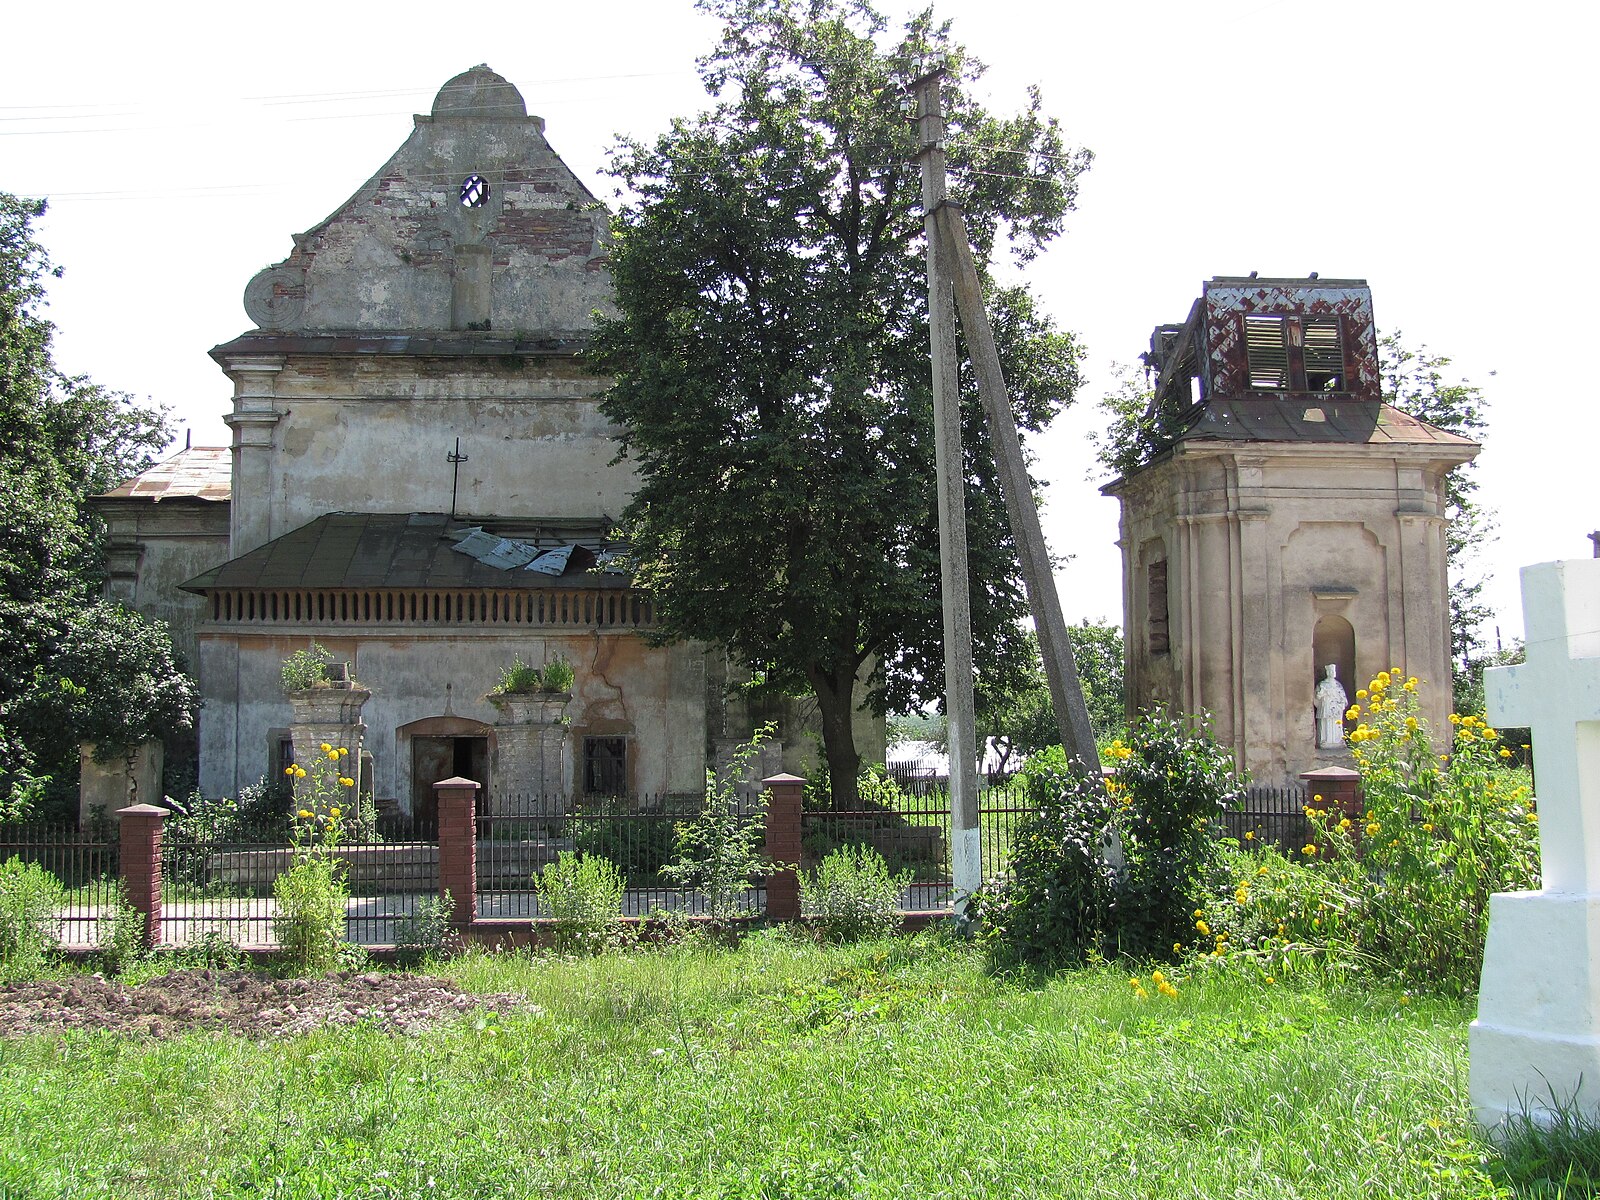
<instances>
[{"instance_id":1,"label":"tall thin leafy shrub beside brick fence pillar below the large tree","mask_svg":"<svg viewBox=\"0 0 1600 1200\"><path fill-rule=\"evenodd\" d=\"M754 875L773 870L762 853L765 842L766 797L746 806L734 790L750 758L762 742L773 736L773 725L760 726L742 742L728 763L726 782L718 784L714 771L706 771L706 803L699 816L680 821L674 830L677 861L661 869L685 888L706 894L706 912L712 920L728 920L739 912L739 896Z\"/></svg>"}]
</instances>

